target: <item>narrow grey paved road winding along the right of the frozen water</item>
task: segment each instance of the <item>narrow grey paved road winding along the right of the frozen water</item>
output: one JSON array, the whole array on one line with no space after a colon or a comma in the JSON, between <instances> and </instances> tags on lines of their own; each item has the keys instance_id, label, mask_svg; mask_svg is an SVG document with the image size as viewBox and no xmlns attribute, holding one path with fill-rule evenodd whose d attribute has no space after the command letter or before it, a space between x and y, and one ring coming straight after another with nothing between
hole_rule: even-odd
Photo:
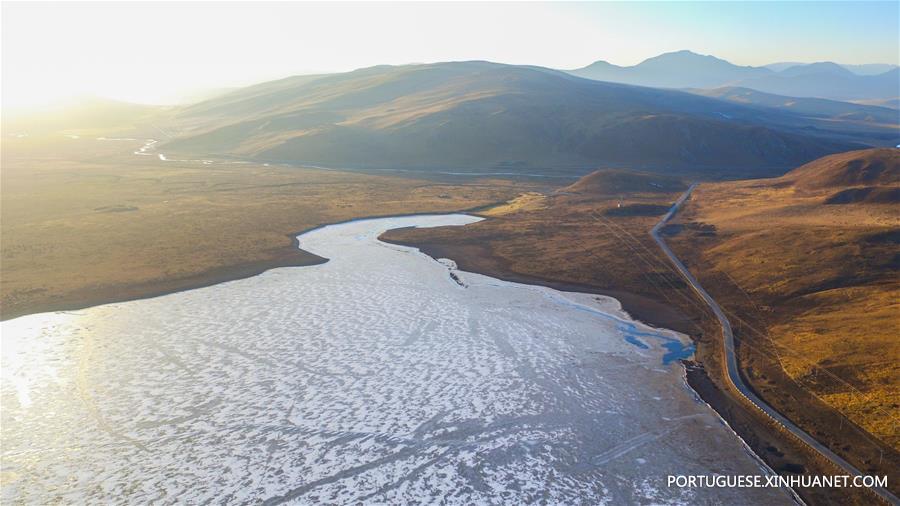
<instances>
[{"instance_id":1,"label":"narrow grey paved road winding along the right of the frozen water","mask_svg":"<svg viewBox=\"0 0 900 506\"><path fill-rule=\"evenodd\" d=\"M696 184L692 184L690 188L687 189L681 197L675 201L675 204L669 209L669 212L663 216L662 220L653 227L653 230L650 232L653 235L653 239L656 240L659 247L662 248L663 252L665 252L666 256L669 257L669 260L672 261L672 264L675 265L675 268L678 269L678 272L681 273L682 276L687 280L687 282L691 285L691 288L694 289L695 292L709 305L710 309L712 309L713 313L715 313L716 318L719 319L719 323L722 325L722 334L725 338L725 358L726 358L726 369L728 371L728 381L731 383L731 386L734 387L735 390L738 391L744 398L746 398L750 403L759 408L766 416L775 421L775 423L779 424L785 430L792 433L798 439L812 447L814 450L819 452L823 457L830 460L834 465L843 469L847 474L851 476L863 476L856 467L842 459L840 456L836 455L834 452L828 449L822 443L816 441L812 436L804 432L802 429L793 424L790 420L785 418L781 413L776 411L772 406L769 406L762 399L757 397L756 394L753 393L752 390L744 383L744 380L741 378L740 372L738 370L737 357L734 353L734 332L731 330L731 323L728 321L728 318L725 316L725 312L716 303L715 300L700 286L700 283L691 274L691 271L688 270L687 267L681 260L675 256L675 253L669 248L666 242L662 239L659 234L659 231L662 230L662 227L675 216L675 213L681 208L682 204L691 196L691 192L694 191ZM890 504L900 505L900 499L897 498L890 490L884 487L873 487L872 491L878 494L882 499L887 501Z\"/></svg>"}]
</instances>

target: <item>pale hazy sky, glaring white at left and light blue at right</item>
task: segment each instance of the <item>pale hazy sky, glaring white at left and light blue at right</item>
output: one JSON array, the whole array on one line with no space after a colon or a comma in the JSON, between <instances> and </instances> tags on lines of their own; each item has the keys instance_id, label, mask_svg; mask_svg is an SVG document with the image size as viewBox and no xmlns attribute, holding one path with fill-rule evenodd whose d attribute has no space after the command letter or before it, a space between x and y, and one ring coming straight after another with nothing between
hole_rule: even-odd
<instances>
[{"instance_id":1,"label":"pale hazy sky, glaring white at left and light blue at right","mask_svg":"<svg viewBox=\"0 0 900 506\"><path fill-rule=\"evenodd\" d=\"M691 49L898 63L898 2L2 4L3 107L161 103L298 73L484 59L575 68Z\"/></svg>"}]
</instances>

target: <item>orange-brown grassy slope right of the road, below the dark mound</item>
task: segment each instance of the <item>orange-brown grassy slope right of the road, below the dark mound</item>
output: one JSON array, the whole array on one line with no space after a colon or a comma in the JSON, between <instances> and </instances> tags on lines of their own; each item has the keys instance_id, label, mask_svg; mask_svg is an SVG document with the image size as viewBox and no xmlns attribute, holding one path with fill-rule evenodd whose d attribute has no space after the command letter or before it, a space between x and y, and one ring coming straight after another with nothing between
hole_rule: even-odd
<instances>
[{"instance_id":1,"label":"orange-brown grassy slope right of the road, below the dark mound","mask_svg":"<svg viewBox=\"0 0 900 506\"><path fill-rule=\"evenodd\" d=\"M830 193L765 180L704 184L678 220L686 232L670 242L744 317L751 367L774 357L791 380L897 449L900 277L896 244L880 238L900 229L900 206L825 205ZM764 345L768 358L752 350ZM764 374L748 376L766 389Z\"/></svg>"}]
</instances>

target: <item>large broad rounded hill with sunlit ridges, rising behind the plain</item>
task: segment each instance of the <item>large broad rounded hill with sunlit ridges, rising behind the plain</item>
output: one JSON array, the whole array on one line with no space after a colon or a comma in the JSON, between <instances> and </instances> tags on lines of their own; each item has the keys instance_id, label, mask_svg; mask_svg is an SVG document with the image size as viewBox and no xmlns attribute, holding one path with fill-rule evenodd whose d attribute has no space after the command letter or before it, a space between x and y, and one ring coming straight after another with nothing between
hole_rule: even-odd
<instances>
[{"instance_id":1,"label":"large broad rounded hill with sunlit ridges, rising behind the plain","mask_svg":"<svg viewBox=\"0 0 900 506\"><path fill-rule=\"evenodd\" d=\"M859 147L780 111L488 62L288 78L176 123L168 151L358 168L771 174Z\"/></svg>"}]
</instances>

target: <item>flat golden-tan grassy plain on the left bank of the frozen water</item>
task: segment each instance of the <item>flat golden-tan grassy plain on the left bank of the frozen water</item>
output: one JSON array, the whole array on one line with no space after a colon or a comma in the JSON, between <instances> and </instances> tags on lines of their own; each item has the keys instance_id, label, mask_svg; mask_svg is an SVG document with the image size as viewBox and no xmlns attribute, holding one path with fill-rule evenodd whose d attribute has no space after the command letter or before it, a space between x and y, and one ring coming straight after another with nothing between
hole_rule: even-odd
<instances>
[{"instance_id":1,"label":"flat golden-tan grassy plain on the left bank of the frozen water","mask_svg":"<svg viewBox=\"0 0 900 506\"><path fill-rule=\"evenodd\" d=\"M503 201L529 184L243 163L162 162L142 141L4 138L4 319L321 261L292 234L373 216Z\"/></svg>"}]
</instances>

